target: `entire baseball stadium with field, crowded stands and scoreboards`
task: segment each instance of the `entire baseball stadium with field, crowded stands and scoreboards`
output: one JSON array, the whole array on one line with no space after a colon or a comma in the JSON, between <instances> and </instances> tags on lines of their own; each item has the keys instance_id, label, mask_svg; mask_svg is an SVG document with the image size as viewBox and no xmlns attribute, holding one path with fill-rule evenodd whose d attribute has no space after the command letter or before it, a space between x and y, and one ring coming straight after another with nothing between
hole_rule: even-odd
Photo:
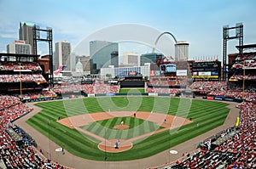
<instances>
[{"instance_id":1,"label":"entire baseball stadium with field, crowded stands and scoreboards","mask_svg":"<svg viewBox=\"0 0 256 169\"><path fill-rule=\"evenodd\" d=\"M1 53L0 167L255 168L256 45L236 48L108 79L67 76L52 52Z\"/></svg>"}]
</instances>

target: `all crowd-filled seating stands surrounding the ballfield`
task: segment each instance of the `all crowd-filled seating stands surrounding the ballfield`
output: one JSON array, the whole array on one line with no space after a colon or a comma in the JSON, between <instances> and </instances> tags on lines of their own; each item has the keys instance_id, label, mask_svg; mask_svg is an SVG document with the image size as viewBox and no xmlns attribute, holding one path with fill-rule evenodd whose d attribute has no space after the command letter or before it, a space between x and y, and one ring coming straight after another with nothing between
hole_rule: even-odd
<instances>
[{"instance_id":1,"label":"all crowd-filled seating stands surrounding the ballfield","mask_svg":"<svg viewBox=\"0 0 256 169\"><path fill-rule=\"evenodd\" d=\"M256 54L238 55L236 60L250 60L245 63L235 62L233 69L256 67L254 59ZM252 69L252 70L253 70ZM1 62L0 70L28 70L29 73L0 74L0 82L46 82L38 63ZM32 71L32 72L30 72ZM253 73L243 76L236 73L231 79L255 80ZM146 87L147 93L180 93L184 89L169 88L166 86L187 85L184 77L151 78ZM156 87L157 86L157 87ZM11 87L10 87L11 88ZM242 91L241 83L232 82L194 82L189 88L196 93L224 98L241 99L237 104L241 110L240 124L218 132L211 138L203 140L195 152L184 154L180 159L159 168L256 168L256 87L249 83ZM54 92L53 92L54 91ZM55 93L119 93L119 86L106 84L103 81L92 84L60 83L49 90L23 93L23 99L38 99L56 97ZM20 95L0 95L0 150L1 159L7 168L66 168L49 161L36 149L36 140L31 138L22 128L12 122L32 111L31 108L20 102ZM14 132L12 132L14 131ZM17 141L20 138L20 141ZM156 167L158 168L158 167Z\"/></svg>"}]
</instances>

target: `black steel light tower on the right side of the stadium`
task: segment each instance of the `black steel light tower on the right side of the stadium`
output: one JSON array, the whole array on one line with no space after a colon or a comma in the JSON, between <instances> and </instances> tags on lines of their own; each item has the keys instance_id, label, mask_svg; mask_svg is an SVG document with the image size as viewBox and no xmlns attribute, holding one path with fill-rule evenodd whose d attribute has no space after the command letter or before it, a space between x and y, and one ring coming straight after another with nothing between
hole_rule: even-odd
<instances>
[{"instance_id":1,"label":"black steel light tower on the right side of the stadium","mask_svg":"<svg viewBox=\"0 0 256 169\"><path fill-rule=\"evenodd\" d=\"M230 36L230 30L236 30L235 36ZM243 25L242 23L237 23L236 26L230 27L229 25L224 25L223 27L223 71L222 71L222 80L226 81L227 79L227 69L229 65L227 63L227 44L231 39L238 39L239 46L243 45ZM242 53L242 49L239 50L239 53Z\"/></svg>"}]
</instances>

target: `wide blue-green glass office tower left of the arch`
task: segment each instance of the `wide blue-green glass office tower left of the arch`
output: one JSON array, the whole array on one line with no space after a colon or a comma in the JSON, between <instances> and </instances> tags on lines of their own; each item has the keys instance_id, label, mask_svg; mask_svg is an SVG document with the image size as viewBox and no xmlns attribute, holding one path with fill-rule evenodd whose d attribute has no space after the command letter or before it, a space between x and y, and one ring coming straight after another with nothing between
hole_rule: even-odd
<instances>
[{"instance_id":1,"label":"wide blue-green glass office tower left of the arch","mask_svg":"<svg viewBox=\"0 0 256 169\"><path fill-rule=\"evenodd\" d=\"M108 65L119 66L119 44L117 42L90 42L90 73L98 74Z\"/></svg>"}]
</instances>

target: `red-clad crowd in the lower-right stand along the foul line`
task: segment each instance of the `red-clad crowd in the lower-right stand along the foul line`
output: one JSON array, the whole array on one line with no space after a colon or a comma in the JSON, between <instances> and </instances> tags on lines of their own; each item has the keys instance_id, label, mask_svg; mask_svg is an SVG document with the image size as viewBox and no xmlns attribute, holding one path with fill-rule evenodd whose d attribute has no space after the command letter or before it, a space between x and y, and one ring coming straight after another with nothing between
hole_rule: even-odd
<instances>
[{"instance_id":1,"label":"red-clad crowd in the lower-right stand along the foul line","mask_svg":"<svg viewBox=\"0 0 256 169\"><path fill-rule=\"evenodd\" d=\"M207 138L194 153L186 153L159 168L256 168L256 104L242 102L240 123Z\"/></svg>"}]
</instances>

